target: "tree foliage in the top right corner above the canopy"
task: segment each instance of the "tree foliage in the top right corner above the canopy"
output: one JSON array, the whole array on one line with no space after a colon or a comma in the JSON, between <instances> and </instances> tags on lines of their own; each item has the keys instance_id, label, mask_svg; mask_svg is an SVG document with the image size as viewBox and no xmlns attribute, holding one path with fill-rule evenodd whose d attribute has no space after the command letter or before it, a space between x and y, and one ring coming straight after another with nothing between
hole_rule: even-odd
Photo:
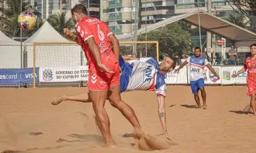
<instances>
[{"instance_id":1,"label":"tree foliage in the top right corner above the canopy","mask_svg":"<svg viewBox=\"0 0 256 153\"><path fill-rule=\"evenodd\" d=\"M233 10L249 18L251 30L256 32L256 1L255 0L226 0Z\"/></svg>"}]
</instances>

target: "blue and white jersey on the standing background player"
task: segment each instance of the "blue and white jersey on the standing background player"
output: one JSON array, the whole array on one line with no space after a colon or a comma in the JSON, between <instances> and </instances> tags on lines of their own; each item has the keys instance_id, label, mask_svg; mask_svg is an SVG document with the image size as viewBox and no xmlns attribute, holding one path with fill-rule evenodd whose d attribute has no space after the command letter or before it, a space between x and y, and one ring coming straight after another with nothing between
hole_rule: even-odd
<instances>
[{"instance_id":1,"label":"blue and white jersey on the standing background player","mask_svg":"<svg viewBox=\"0 0 256 153\"><path fill-rule=\"evenodd\" d=\"M203 71L205 66L209 64L205 57L188 57L186 61L190 64L190 80L198 80L204 78Z\"/></svg>"}]
</instances>

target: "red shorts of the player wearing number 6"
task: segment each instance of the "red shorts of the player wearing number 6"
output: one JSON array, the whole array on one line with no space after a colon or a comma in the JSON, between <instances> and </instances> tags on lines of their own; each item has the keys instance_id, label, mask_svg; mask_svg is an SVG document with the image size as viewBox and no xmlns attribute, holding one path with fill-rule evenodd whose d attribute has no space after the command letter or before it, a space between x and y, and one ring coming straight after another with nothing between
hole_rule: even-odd
<instances>
[{"instance_id":1,"label":"red shorts of the player wearing number 6","mask_svg":"<svg viewBox=\"0 0 256 153\"><path fill-rule=\"evenodd\" d=\"M88 79L88 89L93 91L109 90L110 86L120 84L120 69L118 63L106 65L114 73L90 73Z\"/></svg>"}]
</instances>

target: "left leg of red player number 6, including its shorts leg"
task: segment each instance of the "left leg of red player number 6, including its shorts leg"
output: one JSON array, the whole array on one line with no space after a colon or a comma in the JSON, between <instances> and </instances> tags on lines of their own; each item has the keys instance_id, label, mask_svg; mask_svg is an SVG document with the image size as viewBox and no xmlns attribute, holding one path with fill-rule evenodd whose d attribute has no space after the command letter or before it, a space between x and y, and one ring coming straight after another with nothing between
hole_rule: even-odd
<instances>
[{"instance_id":1,"label":"left leg of red player number 6, including its shorts leg","mask_svg":"<svg viewBox=\"0 0 256 153\"><path fill-rule=\"evenodd\" d=\"M106 147L114 147L110 134L110 120L104 108L109 88L106 73L92 74L88 80L89 96L93 102L95 119L105 139Z\"/></svg>"}]
</instances>

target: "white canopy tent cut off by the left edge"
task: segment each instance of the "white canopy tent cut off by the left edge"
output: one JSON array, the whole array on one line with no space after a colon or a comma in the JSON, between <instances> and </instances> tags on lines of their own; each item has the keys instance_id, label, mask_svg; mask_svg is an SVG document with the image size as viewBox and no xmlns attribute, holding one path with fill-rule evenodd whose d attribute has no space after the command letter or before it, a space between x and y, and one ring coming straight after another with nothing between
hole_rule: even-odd
<instances>
[{"instance_id":1,"label":"white canopy tent cut off by the left edge","mask_svg":"<svg viewBox=\"0 0 256 153\"><path fill-rule=\"evenodd\" d=\"M21 68L21 43L7 37L0 31L0 68Z\"/></svg>"}]
</instances>

